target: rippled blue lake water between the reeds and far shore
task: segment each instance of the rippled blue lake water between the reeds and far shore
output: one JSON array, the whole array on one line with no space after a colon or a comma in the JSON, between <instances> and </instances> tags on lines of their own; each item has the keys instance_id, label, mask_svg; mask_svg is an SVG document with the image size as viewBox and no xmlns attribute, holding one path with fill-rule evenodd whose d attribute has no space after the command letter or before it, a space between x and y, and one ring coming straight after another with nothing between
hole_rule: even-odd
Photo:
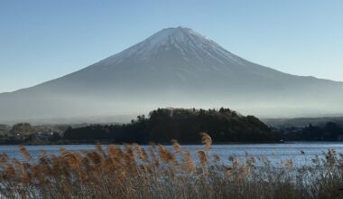
<instances>
[{"instance_id":1,"label":"rippled blue lake water between the reeds and far shore","mask_svg":"<svg viewBox=\"0 0 343 199\"><path fill-rule=\"evenodd\" d=\"M64 147L70 151L94 150L94 145L59 145L59 146L27 146L27 150L33 158L39 157L42 151L47 154L59 155L59 148ZM166 146L172 149L172 146ZM196 158L197 151L202 146L183 145L183 149L190 150L191 155ZM104 149L107 146L103 146ZM343 153L343 143L290 143L290 144L240 144L240 145L213 145L209 156L218 155L224 163L228 162L228 156L245 158L246 154L255 157L267 157L273 164L280 160L292 159L295 166L311 164L311 159L316 155L323 157L323 152L334 149ZM304 153L301 153L303 151ZM18 146L0 146L0 153L22 159Z\"/></svg>"}]
</instances>

